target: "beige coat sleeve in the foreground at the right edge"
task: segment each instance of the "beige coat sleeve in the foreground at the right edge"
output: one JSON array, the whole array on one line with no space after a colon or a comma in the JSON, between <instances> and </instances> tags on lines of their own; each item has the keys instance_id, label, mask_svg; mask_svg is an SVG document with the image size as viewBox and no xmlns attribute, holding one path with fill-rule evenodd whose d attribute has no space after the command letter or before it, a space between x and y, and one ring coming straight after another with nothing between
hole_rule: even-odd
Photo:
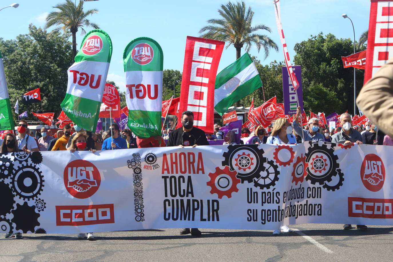
<instances>
[{"instance_id":1,"label":"beige coat sleeve in the foreground at the right edge","mask_svg":"<svg viewBox=\"0 0 393 262\"><path fill-rule=\"evenodd\" d=\"M363 86L356 103L378 128L393 137L393 59Z\"/></svg>"}]
</instances>

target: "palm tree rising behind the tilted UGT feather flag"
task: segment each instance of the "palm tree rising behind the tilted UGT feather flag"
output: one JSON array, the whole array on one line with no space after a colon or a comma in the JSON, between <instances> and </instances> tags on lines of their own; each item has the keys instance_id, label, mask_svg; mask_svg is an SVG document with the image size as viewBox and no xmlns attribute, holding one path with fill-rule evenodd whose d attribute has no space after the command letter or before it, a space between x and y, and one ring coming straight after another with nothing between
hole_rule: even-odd
<instances>
[{"instance_id":1,"label":"palm tree rising behind the tilted UGT feather flag","mask_svg":"<svg viewBox=\"0 0 393 262\"><path fill-rule=\"evenodd\" d=\"M72 33L72 59L76 55L76 32L81 28L81 35L86 34L83 26L91 26L98 29L98 25L90 22L86 19L87 16L98 13L97 9L90 9L86 12L83 11L83 0L79 0L79 4L76 5L71 0L66 0L63 4L57 4L53 8L59 9L59 11L53 11L46 16L45 29L51 26L59 26L52 30L52 32L64 32L70 31Z\"/></svg>"}]
</instances>

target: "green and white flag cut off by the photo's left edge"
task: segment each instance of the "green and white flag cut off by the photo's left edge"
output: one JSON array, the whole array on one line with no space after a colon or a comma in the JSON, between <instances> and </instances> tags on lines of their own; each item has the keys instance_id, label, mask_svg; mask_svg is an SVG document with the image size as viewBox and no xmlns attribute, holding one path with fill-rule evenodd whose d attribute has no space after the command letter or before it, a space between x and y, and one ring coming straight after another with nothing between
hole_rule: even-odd
<instances>
[{"instance_id":1,"label":"green and white flag cut off by the photo's left edge","mask_svg":"<svg viewBox=\"0 0 393 262\"><path fill-rule=\"evenodd\" d=\"M3 57L0 52L0 130L14 130L14 127L6 74L4 73Z\"/></svg>"}]
</instances>

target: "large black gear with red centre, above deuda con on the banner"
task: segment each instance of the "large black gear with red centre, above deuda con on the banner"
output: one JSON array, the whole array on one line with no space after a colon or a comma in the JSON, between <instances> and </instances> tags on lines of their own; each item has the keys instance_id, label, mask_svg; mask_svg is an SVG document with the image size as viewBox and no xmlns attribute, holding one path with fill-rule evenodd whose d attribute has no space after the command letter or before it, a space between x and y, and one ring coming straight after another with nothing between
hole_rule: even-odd
<instances>
[{"instance_id":1,"label":"large black gear with red centre, above deuda con on the banner","mask_svg":"<svg viewBox=\"0 0 393 262\"><path fill-rule=\"evenodd\" d=\"M312 147L309 147L309 151L306 153L306 163L309 163L306 180L310 181L313 185L315 185L315 183L323 185L325 182L332 181L332 176L336 176L337 169L339 168L339 164L337 163L338 156L334 154L334 148L327 148L326 144L320 146L318 143L310 143L310 145L312 145ZM316 154L326 159L326 166L329 168L324 166L323 170L319 170L318 172L312 171L314 167L312 160L314 159L313 156Z\"/></svg>"}]
</instances>

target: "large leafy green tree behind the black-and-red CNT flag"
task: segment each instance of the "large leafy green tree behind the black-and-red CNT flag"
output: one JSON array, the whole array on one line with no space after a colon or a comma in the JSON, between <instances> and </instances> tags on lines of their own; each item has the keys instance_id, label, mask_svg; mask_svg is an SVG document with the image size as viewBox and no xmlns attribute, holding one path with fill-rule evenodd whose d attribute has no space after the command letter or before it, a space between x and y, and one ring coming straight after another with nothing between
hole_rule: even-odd
<instances>
[{"instance_id":1,"label":"large leafy green tree behind the black-and-red CNT flag","mask_svg":"<svg viewBox=\"0 0 393 262\"><path fill-rule=\"evenodd\" d=\"M60 103L67 89L67 70L72 64L69 34L48 33L29 25L29 34L18 35L15 40L0 38L4 70L11 104L20 96L36 88L41 90L42 109L60 112ZM21 101L20 101L21 102ZM19 103L19 112L41 110L39 103ZM14 115L14 119L18 119Z\"/></svg>"}]
</instances>

